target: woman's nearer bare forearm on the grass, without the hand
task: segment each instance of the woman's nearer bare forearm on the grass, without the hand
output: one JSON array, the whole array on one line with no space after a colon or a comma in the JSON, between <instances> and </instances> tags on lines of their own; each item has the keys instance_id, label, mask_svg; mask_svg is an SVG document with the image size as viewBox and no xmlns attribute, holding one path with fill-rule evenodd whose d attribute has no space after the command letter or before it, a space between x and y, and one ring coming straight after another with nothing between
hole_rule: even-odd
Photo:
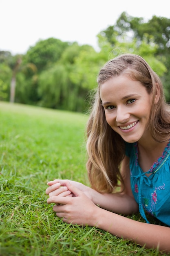
<instances>
[{"instance_id":1,"label":"woman's nearer bare forearm on the grass, without the hand","mask_svg":"<svg viewBox=\"0 0 170 256\"><path fill-rule=\"evenodd\" d=\"M147 248L170 252L170 228L131 220L99 208L93 216L94 226Z\"/></svg>"}]
</instances>

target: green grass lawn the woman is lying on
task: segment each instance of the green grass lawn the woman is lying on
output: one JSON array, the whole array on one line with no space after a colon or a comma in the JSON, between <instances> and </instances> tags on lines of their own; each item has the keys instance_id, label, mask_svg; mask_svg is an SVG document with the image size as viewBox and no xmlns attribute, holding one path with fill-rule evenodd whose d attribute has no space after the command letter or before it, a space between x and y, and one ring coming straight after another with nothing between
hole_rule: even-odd
<instances>
[{"instance_id":1,"label":"green grass lawn the woman is lying on","mask_svg":"<svg viewBox=\"0 0 170 256\"><path fill-rule=\"evenodd\" d=\"M46 203L49 180L88 185L87 119L0 102L0 256L164 255L97 228L68 225Z\"/></svg>"}]
</instances>

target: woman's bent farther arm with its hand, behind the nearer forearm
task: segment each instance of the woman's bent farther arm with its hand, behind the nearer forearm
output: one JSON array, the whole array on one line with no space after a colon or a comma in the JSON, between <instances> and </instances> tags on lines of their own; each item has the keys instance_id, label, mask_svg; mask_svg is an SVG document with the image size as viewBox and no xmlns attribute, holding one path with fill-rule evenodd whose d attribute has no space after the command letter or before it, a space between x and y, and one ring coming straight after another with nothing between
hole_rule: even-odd
<instances>
[{"instance_id":1,"label":"woman's bent farther arm with its hand, behind the nearer forearm","mask_svg":"<svg viewBox=\"0 0 170 256\"><path fill-rule=\"evenodd\" d=\"M121 173L124 178L124 193L99 193L82 183L69 181L73 186L84 192L95 205L108 211L119 214L131 214L138 211L138 204L135 201L130 187L129 158L125 157L121 164ZM74 196L67 188L68 180L53 180L48 182L49 188L46 194L51 196Z\"/></svg>"}]
</instances>

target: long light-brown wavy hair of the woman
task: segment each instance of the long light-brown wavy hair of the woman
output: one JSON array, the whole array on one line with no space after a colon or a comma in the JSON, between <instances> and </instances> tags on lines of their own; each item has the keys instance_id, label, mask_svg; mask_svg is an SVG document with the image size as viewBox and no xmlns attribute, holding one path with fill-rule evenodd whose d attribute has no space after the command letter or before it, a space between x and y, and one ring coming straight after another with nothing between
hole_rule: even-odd
<instances>
[{"instance_id":1,"label":"long light-brown wavy hair of the woman","mask_svg":"<svg viewBox=\"0 0 170 256\"><path fill-rule=\"evenodd\" d=\"M88 178L92 188L101 193L112 193L117 186L124 185L119 169L125 156L125 142L106 122L100 99L101 85L120 74L139 81L148 94L152 93L148 124L150 134L158 142L170 139L170 106L165 101L159 76L141 56L135 54L123 54L108 61L99 71L98 88L87 124ZM155 95L159 95L157 103Z\"/></svg>"}]
</instances>

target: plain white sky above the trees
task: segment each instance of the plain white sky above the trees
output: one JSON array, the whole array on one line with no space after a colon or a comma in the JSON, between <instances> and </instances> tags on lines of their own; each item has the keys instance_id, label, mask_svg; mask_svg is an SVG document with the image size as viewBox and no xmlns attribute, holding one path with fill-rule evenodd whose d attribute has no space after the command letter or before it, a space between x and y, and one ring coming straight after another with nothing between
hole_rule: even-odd
<instances>
[{"instance_id":1,"label":"plain white sky above the trees","mask_svg":"<svg viewBox=\"0 0 170 256\"><path fill-rule=\"evenodd\" d=\"M0 0L0 51L25 54L50 37L97 50L97 34L124 11L146 22L170 18L167 0Z\"/></svg>"}]
</instances>

